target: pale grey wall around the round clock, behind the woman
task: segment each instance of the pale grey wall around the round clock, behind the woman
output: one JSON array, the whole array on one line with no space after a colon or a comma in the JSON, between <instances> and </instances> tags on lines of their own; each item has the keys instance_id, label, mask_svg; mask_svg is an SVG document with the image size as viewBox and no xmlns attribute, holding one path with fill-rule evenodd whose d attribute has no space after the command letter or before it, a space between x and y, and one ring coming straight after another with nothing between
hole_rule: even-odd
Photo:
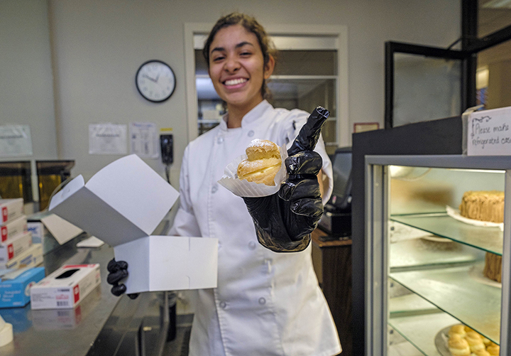
<instances>
[{"instance_id":1,"label":"pale grey wall around the round clock, behind the woman","mask_svg":"<svg viewBox=\"0 0 511 356\"><path fill-rule=\"evenodd\" d=\"M214 23L235 10L263 26L348 26L350 128L354 122L383 126L385 41L446 47L461 33L460 0L48 0L58 156L76 160L73 175L87 180L118 158L89 155L89 124L155 122L173 129L171 179L177 183L187 144L184 24ZM134 85L138 66L149 59L164 60L177 77L174 95L163 104L145 101ZM44 138L55 141L49 133ZM158 160L146 161L163 175Z\"/></svg>"}]
</instances>

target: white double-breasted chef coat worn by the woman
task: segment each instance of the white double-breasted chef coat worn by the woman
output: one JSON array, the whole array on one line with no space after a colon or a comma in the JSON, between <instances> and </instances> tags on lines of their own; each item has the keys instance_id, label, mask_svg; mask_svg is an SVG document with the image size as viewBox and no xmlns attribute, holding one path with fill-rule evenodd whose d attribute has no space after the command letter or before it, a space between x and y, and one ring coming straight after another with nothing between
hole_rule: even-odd
<instances>
[{"instance_id":1,"label":"white double-breasted chef coat worn by the woman","mask_svg":"<svg viewBox=\"0 0 511 356\"><path fill-rule=\"evenodd\" d=\"M263 101L241 127L219 126L190 142L171 235L219 239L218 286L195 291L190 356L331 356L339 336L312 267L311 247L276 253L261 246L243 199L217 183L253 139L292 144L309 114ZM332 181L324 142L317 151ZM327 195L331 194L329 184ZM326 199L328 198L326 196Z\"/></svg>"}]
</instances>

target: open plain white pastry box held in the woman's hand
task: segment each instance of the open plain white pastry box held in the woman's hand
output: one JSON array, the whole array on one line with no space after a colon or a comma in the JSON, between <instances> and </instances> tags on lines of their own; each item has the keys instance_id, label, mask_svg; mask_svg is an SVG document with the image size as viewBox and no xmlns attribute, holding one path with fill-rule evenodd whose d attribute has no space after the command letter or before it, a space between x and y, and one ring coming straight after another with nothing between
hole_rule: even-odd
<instances>
[{"instance_id":1,"label":"open plain white pastry box held in the woman's hand","mask_svg":"<svg viewBox=\"0 0 511 356\"><path fill-rule=\"evenodd\" d=\"M117 261L128 262L126 293L214 288L217 239L151 236L178 197L133 154L102 168L87 184L82 176L73 179L53 196L49 210L110 244Z\"/></svg>"}]
</instances>

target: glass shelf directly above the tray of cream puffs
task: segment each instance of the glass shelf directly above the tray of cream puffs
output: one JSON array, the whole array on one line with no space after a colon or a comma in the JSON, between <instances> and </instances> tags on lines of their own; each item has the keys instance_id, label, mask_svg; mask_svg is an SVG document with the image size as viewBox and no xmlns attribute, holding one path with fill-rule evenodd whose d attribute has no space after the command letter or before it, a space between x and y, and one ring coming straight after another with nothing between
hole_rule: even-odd
<instances>
[{"instance_id":1,"label":"glass shelf directly above the tray of cream puffs","mask_svg":"<svg viewBox=\"0 0 511 356\"><path fill-rule=\"evenodd\" d=\"M473 264L396 272L389 276L442 311L455 315L461 323L499 343L502 290L485 283L485 278L476 272L482 271L479 267L480 264Z\"/></svg>"}]
</instances>

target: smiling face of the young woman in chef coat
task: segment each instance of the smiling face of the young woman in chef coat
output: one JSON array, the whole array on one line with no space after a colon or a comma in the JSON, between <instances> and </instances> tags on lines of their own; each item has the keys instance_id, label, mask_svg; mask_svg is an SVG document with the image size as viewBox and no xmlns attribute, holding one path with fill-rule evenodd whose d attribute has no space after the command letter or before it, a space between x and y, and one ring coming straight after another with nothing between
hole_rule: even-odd
<instances>
[{"instance_id":1,"label":"smiling face of the young woman in chef coat","mask_svg":"<svg viewBox=\"0 0 511 356\"><path fill-rule=\"evenodd\" d=\"M273 58L264 65L257 37L241 25L221 28L209 47L209 77L228 106L252 109L259 104L273 65Z\"/></svg>"}]
</instances>

